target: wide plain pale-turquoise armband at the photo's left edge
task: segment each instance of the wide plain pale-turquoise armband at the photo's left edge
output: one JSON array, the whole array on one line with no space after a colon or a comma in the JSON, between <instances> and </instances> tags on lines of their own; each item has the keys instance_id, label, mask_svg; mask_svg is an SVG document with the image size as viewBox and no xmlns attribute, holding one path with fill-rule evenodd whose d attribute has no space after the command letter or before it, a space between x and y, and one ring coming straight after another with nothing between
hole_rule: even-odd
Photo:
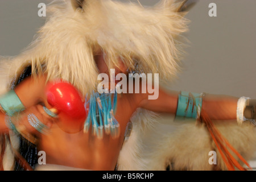
<instances>
[{"instance_id":1,"label":"wide plain pale-turquoise armband at the photo's left edge","mask_svg":"<svg viewBox=\"0 0 256 182\"><path fill-rule=\"evenodd\" d=\"M25 109L14 90L10 90L8 93L0 97L0 106L10 117Z\"/></svg>"}]
</instances>

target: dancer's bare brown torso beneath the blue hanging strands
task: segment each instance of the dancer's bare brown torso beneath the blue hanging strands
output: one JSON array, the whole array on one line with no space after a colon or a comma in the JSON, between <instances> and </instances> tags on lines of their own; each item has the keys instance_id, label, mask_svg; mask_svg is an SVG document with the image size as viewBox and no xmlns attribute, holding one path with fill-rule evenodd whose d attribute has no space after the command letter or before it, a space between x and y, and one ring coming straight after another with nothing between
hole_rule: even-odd
<instances>
[{"instance_id":1,"label":"dancer's bare brown torso beneath the blue hanging strands","mask_svg":"<svg viewBox=\"0 0 256 182\"><path fill-rule=\"evenodd\" d=\"M131 96L127 96L131 97ZM133 99L118 97L115 118L121 127L117 139L104 135L99 139L88 133L64 133L57 125L53 125L51 134L41 135L38 151L46 152L46 163L63 166L92 169L113 170L121 150L125 129L136 107Z\"/></svg>"}]
</instances>

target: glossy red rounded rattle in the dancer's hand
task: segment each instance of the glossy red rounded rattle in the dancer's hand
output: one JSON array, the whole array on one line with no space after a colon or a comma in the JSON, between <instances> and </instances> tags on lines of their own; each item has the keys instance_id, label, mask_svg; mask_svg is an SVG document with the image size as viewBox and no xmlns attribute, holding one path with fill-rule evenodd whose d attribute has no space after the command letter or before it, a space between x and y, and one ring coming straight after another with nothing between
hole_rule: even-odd
<instances>
[{"instance_id":1,"label":"glossy red rounded rattle in the dancer's hand","mask_svg":"<svg viewBox=\"0 0 256 182\"><path fill-rule=\"evenodd\" d=\"M49 114L59 118L57 125L67 133L77 133L83 129L87 116L85 101L81 94L68 82L49 82L46 88L47 102L52 108Z\"/></svg>"}]
</instances>

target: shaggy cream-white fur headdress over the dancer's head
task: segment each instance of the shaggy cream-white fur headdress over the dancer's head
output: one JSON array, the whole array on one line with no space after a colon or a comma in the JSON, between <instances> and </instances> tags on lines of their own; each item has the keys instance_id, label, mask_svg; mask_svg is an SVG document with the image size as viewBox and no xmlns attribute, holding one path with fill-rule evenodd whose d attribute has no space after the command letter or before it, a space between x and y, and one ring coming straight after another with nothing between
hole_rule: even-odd
<instances>
[{"instance_id":1,"label":"shaggy cream-white fur headdress over the dancer's head","mask_svg":"<svg viewBox=\"0 0 256 182\"><path fill-rule=\"evenodd\" d=\"M83 94L97 86L94 55L101 50L109 66L118 66L119 56L131 70L159 73L160 79L168 80L179 71L183 53L179 38L187 30L185 13L178 12L181 5L173 0L154 7L55 0L47 6L46 24L15 63L32 64L33 72L46 72L49 79L63 78Z\"/></svg>"}]
</instances>

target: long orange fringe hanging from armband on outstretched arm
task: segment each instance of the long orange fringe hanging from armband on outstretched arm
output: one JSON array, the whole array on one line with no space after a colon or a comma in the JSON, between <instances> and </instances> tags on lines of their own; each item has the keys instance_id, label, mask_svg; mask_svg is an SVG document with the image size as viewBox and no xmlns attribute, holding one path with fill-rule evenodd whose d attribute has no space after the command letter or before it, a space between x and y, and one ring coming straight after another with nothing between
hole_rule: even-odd
<instances>
[{"instance_id":1,"label":"long orange fringe hanging from armband on outstretched arm","mask_svg":"<svg viewBox=\"0 0 256 182\"><path fill-rule=\"evenodd\" d=\"M209 118L208 114L202 109L201 110L200 119L203 121L209 130L209 133L216 144L218 151L220 151L221 157L224 160L224 163L229 171L236 170L235 167L241 171L246 171L247 169L243 168L240 163L230 154L229 150L234 152L238 156L238 158L246 164L249 169L252 169L250 165L246 162L245 159L231 146L231 144L226 140L217 130L217 128L213 125L212 120Z\"/></svg>"}]
</instances>

